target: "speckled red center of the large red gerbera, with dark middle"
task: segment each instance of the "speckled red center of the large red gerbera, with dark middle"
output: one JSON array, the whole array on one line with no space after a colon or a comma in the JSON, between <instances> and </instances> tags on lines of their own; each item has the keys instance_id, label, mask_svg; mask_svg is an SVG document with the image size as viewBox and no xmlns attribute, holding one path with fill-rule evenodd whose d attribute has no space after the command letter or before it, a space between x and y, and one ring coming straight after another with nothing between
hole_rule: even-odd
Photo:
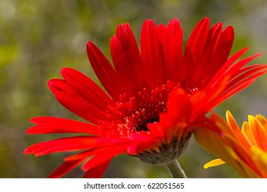
<instances>
[{"instance_id":1,"label":"speckled red center of the large red gerbera, with dark middle","mask_svg":"<svg viewBox=\"0 0 267 192\"><path fill-rule=\"evenodd\" d=\"M167 99L173 86L170 82L149 91L143 88L133 95L120 95L116 107L109 107L103 112L108 121L100 121L101 132L106 136L128 137L129 135L147 131L147 123L159 121L160 112L166 111Z\"/></svg>"}]
</instances>

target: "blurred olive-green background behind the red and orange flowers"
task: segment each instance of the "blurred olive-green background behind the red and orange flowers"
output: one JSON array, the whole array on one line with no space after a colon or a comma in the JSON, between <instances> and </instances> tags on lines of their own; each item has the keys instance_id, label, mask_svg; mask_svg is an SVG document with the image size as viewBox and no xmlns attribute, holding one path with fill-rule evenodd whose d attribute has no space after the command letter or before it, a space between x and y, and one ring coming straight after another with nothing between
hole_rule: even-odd
<instances>
[{"instance_id":1,"label":"blurred olive-green background behind the red and orange flowers","mask_svg":"<svg viewBox=\"0 0 267 192\"><path fill-rule=\"evenodd\" d=\"M209 16L212 25L233 25L233 52L251 47L246 56L263 52L255 63L267 63L267 1L236 0L1 0L0 1L0 178L45 178L62 163L66 153L34 157L23 150L61 135L26 135L29 119L57 116L79 119L54 98L47 81L72 67L98 82L86 55L92 40L110 58L109 41L119 23L130 23L139 41L144 19L168 24L177 17L185 34ZM223 117L231 110L239 125L247 115L267 116L267 75L215 109ZM214 157L194 138L179 162L189 178L239 178L228 165L203 169ZM80 169L66 178L79 178ZM169 178L164 166L147 165L122 155L112 160L105 178Z\"/></svg>"}]
</instances>

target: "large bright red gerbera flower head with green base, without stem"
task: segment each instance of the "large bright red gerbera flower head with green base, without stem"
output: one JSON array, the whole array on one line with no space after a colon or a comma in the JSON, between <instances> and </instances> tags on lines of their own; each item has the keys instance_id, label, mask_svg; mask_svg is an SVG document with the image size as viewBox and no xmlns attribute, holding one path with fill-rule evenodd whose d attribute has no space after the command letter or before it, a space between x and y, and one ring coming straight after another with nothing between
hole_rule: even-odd
<instances>
[{"instance_id":1,"label":"large bright red gerbera flower head with green base, without stem","mask_svg":"<svg viewBox=\"0 0 267 192\"><path fill-rule=\"evenodd\" d=\"M107 93L79 71L62 69L64 80L50 80L49 88L63 106L90 123L58 117L31 119L36 125L27 134L83 135L37 143L25 154L82 150L64 159L49 176L55 178L83 162L85 177L101 177L118 154L135 155L153 164L178 158L192 125L266 72L262 64L244 67L259 54L236 62L248 48L228 58L233 28L222 28L217 23L209 29L209 19L202 19L182 54L183 31L178 19L167 27L145 21L140 51L129 24L118 25L110 42L114 66L88 42L88 58Z\"/></svg>"}]
</instances>

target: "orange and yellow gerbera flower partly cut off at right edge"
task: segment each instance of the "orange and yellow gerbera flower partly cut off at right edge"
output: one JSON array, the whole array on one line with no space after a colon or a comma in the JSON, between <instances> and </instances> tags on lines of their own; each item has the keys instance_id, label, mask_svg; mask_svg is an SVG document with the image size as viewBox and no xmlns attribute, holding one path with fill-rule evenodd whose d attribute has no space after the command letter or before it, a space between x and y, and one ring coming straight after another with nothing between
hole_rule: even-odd
<instances>
[{"instance_id":1,"label":"orange and yellow gerbera flower partly cut off at right edge","mask_svg":"<svg viewBox=\"0 0 267 192\"><path fill-rule=\"evenodd\" d=\"M267 178L267 120L262 115L249 115L242 130L231 112L227 122L216 114L209 120L219 130L196 128L194 136L201 146L220 159L212 160L204 167L228 163L244 178Z\"/></svg>"}]
</instances>

